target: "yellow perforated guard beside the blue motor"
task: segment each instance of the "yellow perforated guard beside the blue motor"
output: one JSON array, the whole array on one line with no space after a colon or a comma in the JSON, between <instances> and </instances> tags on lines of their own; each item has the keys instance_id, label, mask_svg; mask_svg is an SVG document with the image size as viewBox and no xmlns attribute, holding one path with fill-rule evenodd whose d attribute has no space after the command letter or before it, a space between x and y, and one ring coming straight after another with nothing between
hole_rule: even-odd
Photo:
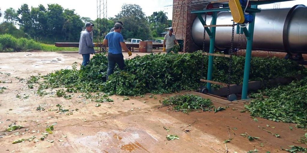
<instances>
[{"instance_id":1,"label":"yellow perforated guard beside the blue motor","mask_svg":"<svg viewBox=\"0 0 307 153\"><path fill-rule=\"evenodd\" d=\"M229 0L229 8L235 23L244 23L244 13L239 0Z\"/></svg>"}]
</instances>

